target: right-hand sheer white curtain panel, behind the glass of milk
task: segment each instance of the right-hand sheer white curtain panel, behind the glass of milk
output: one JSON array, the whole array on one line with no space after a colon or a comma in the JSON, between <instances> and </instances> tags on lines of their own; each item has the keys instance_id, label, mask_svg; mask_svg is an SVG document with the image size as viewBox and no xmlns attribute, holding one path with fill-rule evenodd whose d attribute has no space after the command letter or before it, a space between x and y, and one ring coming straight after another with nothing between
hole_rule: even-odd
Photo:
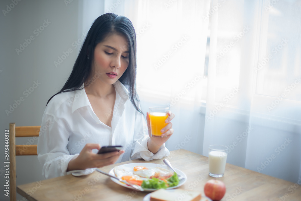
<instances>
[{"instance_id":1,"label":"right-hand sheer white curtain panel, behind the glass of milk","mask_svg":"<svg viewBox=\"0 0 301 201\"><path fill-rule=\"evenodd\" d=\"M212 1L203 155L297 182L301 174L300 1Z\"/></svg>"}]
</instances>

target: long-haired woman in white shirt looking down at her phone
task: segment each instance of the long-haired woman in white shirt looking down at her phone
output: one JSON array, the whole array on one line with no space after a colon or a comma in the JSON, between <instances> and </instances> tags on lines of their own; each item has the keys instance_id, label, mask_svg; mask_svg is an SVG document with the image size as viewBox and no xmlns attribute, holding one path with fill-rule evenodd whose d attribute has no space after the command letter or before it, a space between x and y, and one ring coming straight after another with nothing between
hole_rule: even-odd
<instances>
[{"instance_id":1,"label":"long-haired woman in white shirt looking down at her phone","mask_svg":"<svg viewBox=\"0 0 301 201\"><path fill-rule=\"evenodd\" d=\"M169 112L164 138L151 137L135 90L136 36L131 21L104 14L92 24L70 77L47 103L38 140L43 176L73 171L89 174L115 162L169 155L165 142L173 133ZM148 132L148 135L147 135ZM97 154L101 146L124 150Z\"/></svg>"}]
</instances>

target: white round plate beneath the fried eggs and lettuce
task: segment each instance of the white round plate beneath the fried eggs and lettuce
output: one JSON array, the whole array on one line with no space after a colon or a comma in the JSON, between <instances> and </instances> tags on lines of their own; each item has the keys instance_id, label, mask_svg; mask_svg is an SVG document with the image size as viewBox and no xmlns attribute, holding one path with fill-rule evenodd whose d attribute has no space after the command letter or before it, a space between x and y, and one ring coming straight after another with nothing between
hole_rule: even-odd
<instances>
[{"instance_id":1,"label":"white round plate beneath the fried eggs and lettuce","mask_svg":"<svg viewBox=\"0 0 301 201\"><path fill-rule=\"evenodd\" d=\"M168 169L170 170L169 167L167 167L166 165L160 165L160 164L156 164L156 163L129 163L129 164L124 164L124 165L119 165L118 167L121 168L121 169L124 169L125 171L128 171L128 172L133 172L133 169L135 166L138 166L138 165L142 165L142 166L145 166L145 167L148 167L148 168L165 168L165 169ZM177 172L178 175L182 175L184 177L184 179L182 181L179 182L179 184L177 186L174 186L174 187L169 187L169 188L166 188L166 189L173 189L173 188L177 188L179 186L182 186L186 181L187 181L187 177L186 175L184 174L184 172L182 172L181 170L179 169L176 169L174 168L175 171ZM113 175L115 176L114 174L114 168L110 170L109 172L110 175ZM142 177L141 177L142 178ZM130 189L135 189L131 186L128 186L120 181L118 181L117 179L114 179L114 178L111 178L112 181L114 181L116 184L119 184L121 186L124 186L124 187L127 187L127 188L130 188ZM146 178L142 178L142 179L146 179ZM145 188L144 191L155 191L157 189L154 189L154 188Z\"/></svg>"}]
</instances>

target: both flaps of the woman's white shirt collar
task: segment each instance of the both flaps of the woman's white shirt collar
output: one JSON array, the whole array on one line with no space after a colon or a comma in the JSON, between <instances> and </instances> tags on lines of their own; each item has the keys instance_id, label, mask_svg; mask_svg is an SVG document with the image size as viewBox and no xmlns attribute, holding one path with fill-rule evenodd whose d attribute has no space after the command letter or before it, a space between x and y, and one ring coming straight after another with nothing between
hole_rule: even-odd
<instances>
[{"instance_id":1,"label":"both flaps of the woman's white shirt collar","mask_svg":"<svg viewBox=\"0 0 301 201\"><path fill-rule=\"evenodd\" d=\"M116 92L125 102L129 98L128 95L129 91L127 90L127 88L119 80L117 80L113 85L115 87ZM90 106L92 109L88 96L85 92L84 84L82 84L81 88L82 89L75 91L72 110L71 110L72 113L75 110L85 106Z\"/></svg>"}]
</instances>

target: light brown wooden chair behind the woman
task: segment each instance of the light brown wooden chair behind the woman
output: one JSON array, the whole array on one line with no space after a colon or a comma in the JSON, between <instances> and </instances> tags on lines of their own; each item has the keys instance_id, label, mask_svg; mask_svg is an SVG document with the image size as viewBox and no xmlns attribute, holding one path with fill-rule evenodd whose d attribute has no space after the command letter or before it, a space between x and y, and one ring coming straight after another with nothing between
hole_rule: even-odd
<instances>
[{"instance_id":1,"label":"light brown wooden chair behind the woman","mask_svg":"<svg viewBox=\"0 0 301 201\"><path fill-rule=\"evenodd\" d=\"M39 137L41 126L19 126L9 124L10 200L17 200L16 156L38 155L37 145L16 145L16 137Z\"/></svg>"}]
</instances>

